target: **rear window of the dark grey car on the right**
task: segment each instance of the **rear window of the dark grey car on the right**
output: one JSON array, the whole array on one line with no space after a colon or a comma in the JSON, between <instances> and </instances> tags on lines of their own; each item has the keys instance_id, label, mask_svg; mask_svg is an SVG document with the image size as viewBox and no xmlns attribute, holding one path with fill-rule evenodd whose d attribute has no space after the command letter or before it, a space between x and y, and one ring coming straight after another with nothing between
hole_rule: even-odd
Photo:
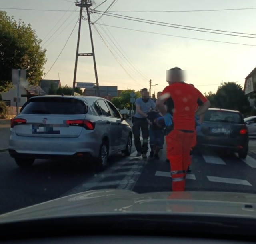
<instances>
[{"instance_id":1,"label":"rear window of the dark grey car on the right","mask_svg":"<svg viewBox=\"0 0 256 244\"><path fill-rule=\"evenodd\" d=\"M226 122L243 124L242 115L235 112L208 110L204 115L204 121Z\"/></svg>"}]
</instances>

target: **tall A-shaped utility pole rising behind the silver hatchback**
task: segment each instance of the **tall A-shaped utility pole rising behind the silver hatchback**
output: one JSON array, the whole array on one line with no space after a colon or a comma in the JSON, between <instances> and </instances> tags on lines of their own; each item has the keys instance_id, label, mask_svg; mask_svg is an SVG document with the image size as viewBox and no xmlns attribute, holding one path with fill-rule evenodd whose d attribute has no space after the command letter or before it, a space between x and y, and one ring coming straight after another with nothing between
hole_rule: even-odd
<instances>
[{"instance_id":1,"label":"tall A-shaped utility pole rising behind the silver hatchback","mask_svg":"<svg viewBox=\"0 0 256 244\"><path fill-rule=\"evenodd\" d=\"M95 72L97 96L100 96L98 74L97 74L96 60L95 60L95 54L94 54L94 45L93 45L93 39L92 39L92 30L91 30L91 24L90 24L90 14L89 14L89 10L88 10L88 8L90 6L92 6L92 1L91 0L81 0L80 2L76 2L76 6L80 7L80 16L79 16L78 38L77 38L77 46L76 46L76 61L75 61L74 80L73 80L73 95L74 95L74 90L75 90L75 87L76 87L76 73L77 73L78 57L79 56L83 56L83 57L84 56L92 56L93 57L93 63L94 63L94 72ZM92 45L92 52L91 53L79 53L80 32L81 32L81 22L82 22L83 8L86 8L87 17L88 17L90 40L91 40L91 45Z\"/></svg>"}]
</instances>

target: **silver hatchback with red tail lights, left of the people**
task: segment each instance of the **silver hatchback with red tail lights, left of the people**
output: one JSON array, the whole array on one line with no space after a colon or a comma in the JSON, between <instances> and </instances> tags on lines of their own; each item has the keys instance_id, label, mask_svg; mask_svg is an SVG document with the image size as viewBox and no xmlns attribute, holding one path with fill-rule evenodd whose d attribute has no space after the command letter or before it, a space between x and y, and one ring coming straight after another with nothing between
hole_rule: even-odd
<instances>
[{"instance_id":1,"label":"silver hatchback with red tail lights, left of the people","mask_svg":"<svg viewBox=\"0 0 256 244\"><path fill-rule=\"evenodd\" d=\"M131 153L128 118L100 97L33 97L11 120L9 154L21 167L36 158L78 158L103 170L109 155Z\"/></svg>"}]
</instances>

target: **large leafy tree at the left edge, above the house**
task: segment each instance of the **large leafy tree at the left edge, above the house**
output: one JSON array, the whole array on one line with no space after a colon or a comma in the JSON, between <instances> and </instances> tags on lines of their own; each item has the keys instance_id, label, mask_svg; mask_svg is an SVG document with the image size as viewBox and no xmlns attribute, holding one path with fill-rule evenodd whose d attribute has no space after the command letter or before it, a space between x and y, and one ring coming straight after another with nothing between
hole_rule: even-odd
<instances>
[{"instance_id":1,"label":"large leafy tree at the left edge, above the house","mask_svg":"<svg viewBox=\"0 0 256 244\"><path fill-rule=\"evenodd\" d=\"M10 88L13 68L26 69L28 82L38 84L47 61L41 42L30 24L0 11L0 92Z\"/></svg>"}]
</instances>

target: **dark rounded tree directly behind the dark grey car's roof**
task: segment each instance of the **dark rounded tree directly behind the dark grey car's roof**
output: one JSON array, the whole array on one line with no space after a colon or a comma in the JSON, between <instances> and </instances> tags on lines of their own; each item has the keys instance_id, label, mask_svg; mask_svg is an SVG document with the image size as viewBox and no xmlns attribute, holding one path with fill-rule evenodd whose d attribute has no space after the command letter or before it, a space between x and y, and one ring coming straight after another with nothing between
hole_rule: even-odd
<instances>
[{"instance_id":1,"label":"dark rounded tree directly behind the dark grey car's roof","mask_svg":"<svg viewBox=\"0 0 256 244\"><path fill-rule=\"evenodd\" d=\"M213 96L216 107L238 110L248 114L251 110L250 103L241 85L236 82L222 83Z\"/></svg>"}]
</instances>

